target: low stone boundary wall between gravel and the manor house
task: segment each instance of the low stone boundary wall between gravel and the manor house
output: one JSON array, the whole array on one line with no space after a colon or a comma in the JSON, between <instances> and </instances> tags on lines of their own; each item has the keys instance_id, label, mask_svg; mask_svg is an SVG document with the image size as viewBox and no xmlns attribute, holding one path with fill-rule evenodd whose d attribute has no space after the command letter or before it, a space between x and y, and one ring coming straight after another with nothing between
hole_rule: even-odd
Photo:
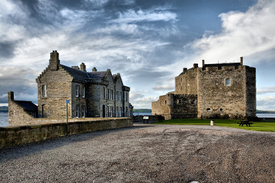
<instances>
[{"instance_id":1,"label":"low stone boundary wall between gravel and the manor house","mask_svg":"<svg viewBox=\"0 0 275 183\"><path fill-rule=\"evenodd\" d=\"M93 120L85 119L85 121L76 120L76 122L68 123L68 134L72 135L89 131L132 126L132 118L93 118ZM66 136L66 134L67 123L65 122L45 125L26 125L21 127L0 127L0 148L38 142L48 138Z\"/></svg>"}]
</instances>

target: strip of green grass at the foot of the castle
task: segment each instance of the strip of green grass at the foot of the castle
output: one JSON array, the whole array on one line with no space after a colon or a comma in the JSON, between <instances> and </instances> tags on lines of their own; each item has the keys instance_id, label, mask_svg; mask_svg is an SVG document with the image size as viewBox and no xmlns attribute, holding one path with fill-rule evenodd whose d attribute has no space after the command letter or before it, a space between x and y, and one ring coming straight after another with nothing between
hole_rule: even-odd
<instances>
[{"instance_id":1,"label":"strip of green grass at the foot of the castle","mask_svg":"<svg viewBox=\"0 0 275 183\"><path fill-rule=\"evenodd\" d=\"M243 125L240 127L237 122L240 120L214 120L214 125L220 127L232 127L237 129L248 129L254 131L272 131L275 132L275 121L266 121L266 122L252 122L253 125L251 127L247 127ZM210 125L209 119L174 119L174 120L164 120L162 122L154 122L154 124L160 125Z\"/></svg>"}]
</instances>

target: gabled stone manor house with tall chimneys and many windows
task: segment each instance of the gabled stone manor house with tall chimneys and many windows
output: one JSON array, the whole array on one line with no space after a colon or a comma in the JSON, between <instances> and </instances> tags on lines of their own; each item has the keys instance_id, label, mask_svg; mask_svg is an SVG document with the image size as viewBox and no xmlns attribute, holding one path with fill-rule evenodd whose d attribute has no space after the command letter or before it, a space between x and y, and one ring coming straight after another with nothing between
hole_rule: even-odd
<instances>
[{"instance_id":1,"label":"gabled stone manor house with tall chimneys and many windows","mask_svg":"<svg viewBox=\"0 0 275 183\"><path fill-rule=\"evenodd\" d=\"M58 52L50 53L50 64L36 78L38 105L30 101L14 100L8 92L10 125L25 118L131 117L133 106L129 103L130 87L122 83L120 74L110 69L87 72L85 63L80 67L67 67L59 61ZM20 115L21 114L21 115Z\"/></svg>"}]
</instances>

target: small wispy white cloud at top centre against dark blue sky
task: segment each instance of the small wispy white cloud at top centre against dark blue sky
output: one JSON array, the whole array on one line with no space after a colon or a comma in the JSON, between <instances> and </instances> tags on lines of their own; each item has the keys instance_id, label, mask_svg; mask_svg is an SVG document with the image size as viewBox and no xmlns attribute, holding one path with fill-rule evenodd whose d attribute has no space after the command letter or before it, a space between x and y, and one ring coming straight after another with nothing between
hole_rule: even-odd
<instances>
[{"instance_id":1,"label":"small wispy white cloud at top centre against dark blue sky","mask_svg":"<svg viewBox=\"0 0 275 183\"><path fill-rule=\"evenodd\" d=\"M118 19L110 20L110 23L135 23L139 21L177 21L177 14L155 8L152 10L127 10L118 12Z\"/></svg>"}]
</instances>

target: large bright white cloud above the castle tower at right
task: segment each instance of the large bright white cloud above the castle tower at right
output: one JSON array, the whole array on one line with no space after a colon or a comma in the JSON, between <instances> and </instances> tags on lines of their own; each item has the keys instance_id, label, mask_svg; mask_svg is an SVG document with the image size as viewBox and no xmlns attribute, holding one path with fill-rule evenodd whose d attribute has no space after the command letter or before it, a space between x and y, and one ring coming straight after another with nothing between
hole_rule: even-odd
<instances>
[{"instance_id":1,"label":"large bright white cloud above the castle tower at right","mask_svg":"<svg viewBox=\"0 0 275 183\"><path fill-rule=\"evenodd\" d=\"M275 1L260 0L247 12L231 11L220 14L222 32L205 35L202 39L191 43L192 50L199 50L199 58L206 58L207 62L216 63L239 61L236 60L239 56L250 56L274 49L274 8Z\"/></svg>"}]
</instances>

